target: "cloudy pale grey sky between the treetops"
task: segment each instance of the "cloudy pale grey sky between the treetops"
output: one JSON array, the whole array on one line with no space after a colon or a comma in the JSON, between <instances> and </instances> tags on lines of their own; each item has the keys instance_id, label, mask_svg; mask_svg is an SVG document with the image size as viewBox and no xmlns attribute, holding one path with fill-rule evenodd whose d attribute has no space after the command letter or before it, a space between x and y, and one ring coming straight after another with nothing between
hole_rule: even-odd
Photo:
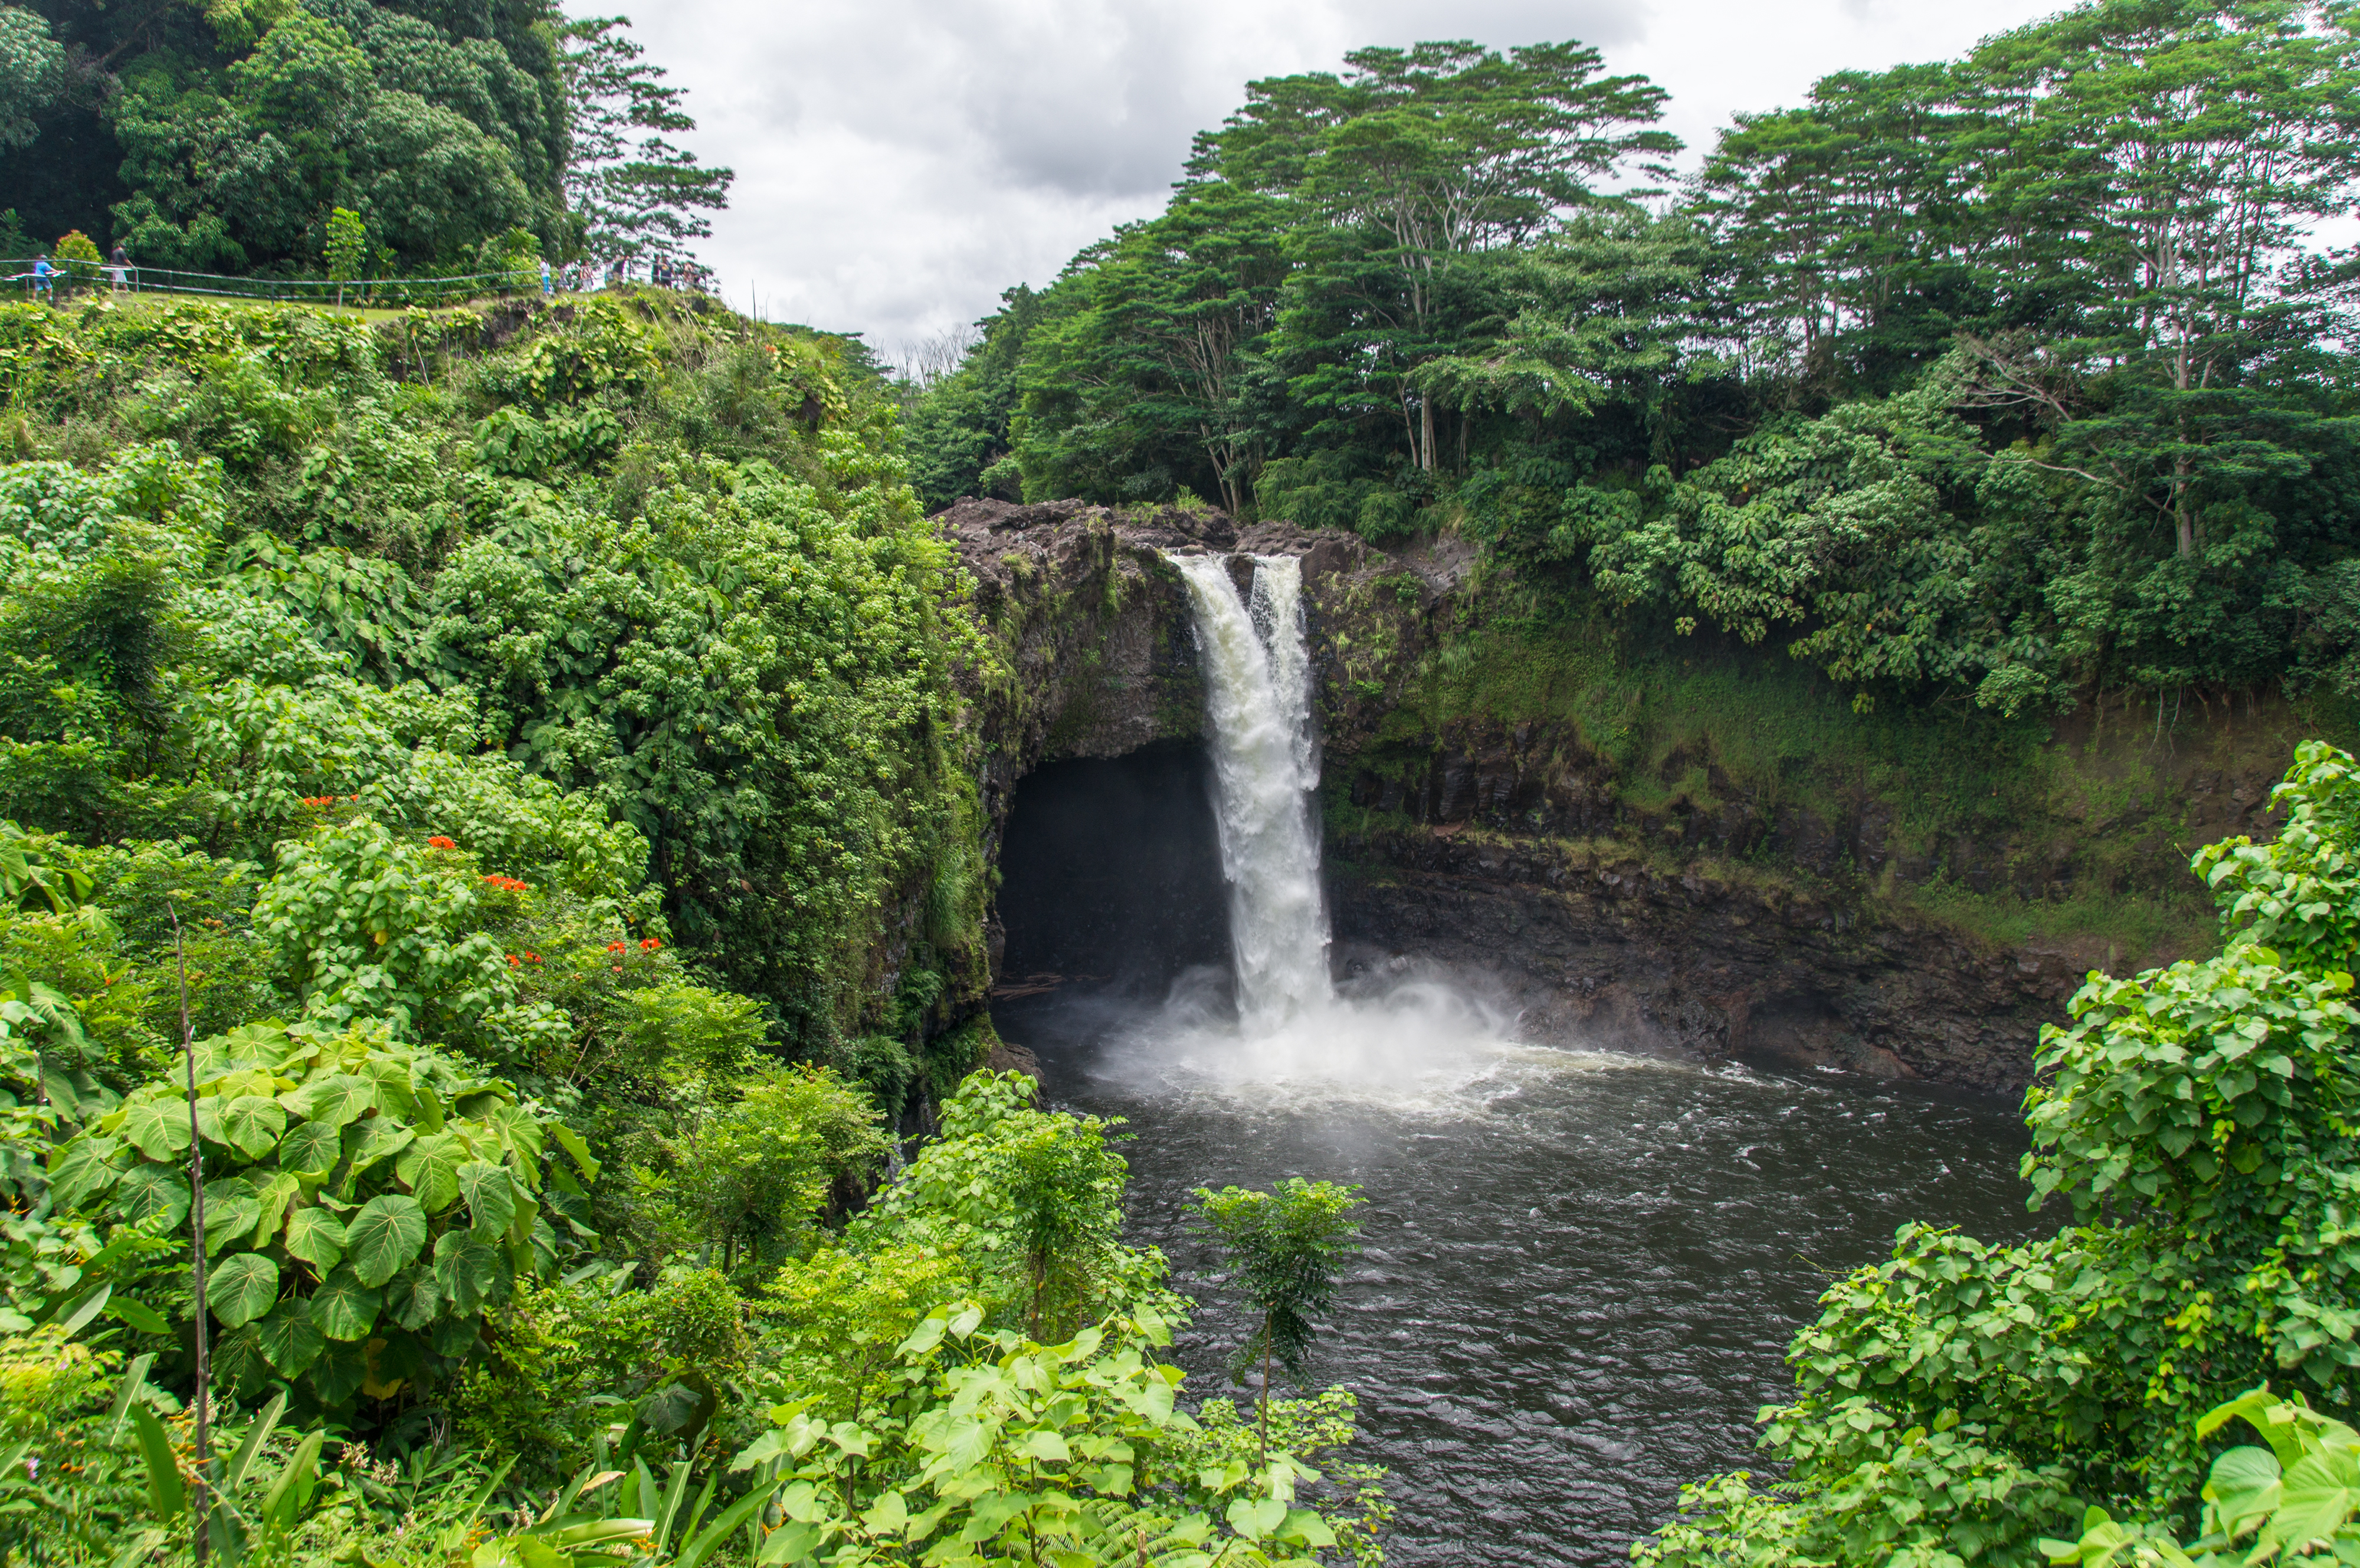
<instances>
[{"instance_id":1,"label":"cloudy pale grey sky between the treetops","mask_svg":"<svg viewBox=\"0 0 2360 1568\"><path fill-rule=\"evenodd\" d=\"M592 9L592 7L576 7ZM607 0L595 9L618 9ZM736 305L883 354L1048 283L1163 205L1258 76L1362 45L1579 38L1671 92L1694 151L1812 78L1940 59L2060 0L663 0L632 21L736 168L703 257Z\"/></svg>"}]
</instances>

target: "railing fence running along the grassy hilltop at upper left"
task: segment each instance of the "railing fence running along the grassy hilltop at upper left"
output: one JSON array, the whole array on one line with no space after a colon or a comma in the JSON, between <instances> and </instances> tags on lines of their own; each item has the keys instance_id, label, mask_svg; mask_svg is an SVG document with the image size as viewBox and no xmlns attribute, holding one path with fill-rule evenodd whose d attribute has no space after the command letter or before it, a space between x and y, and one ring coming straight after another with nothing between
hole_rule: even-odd
<instances>
[{"instance_id":1,"label":"railing fence running along the grassy hilltop at upper left","mask_svg":"<svg viewBox=\"0 0 2360 1568\"><path fill-rule=\"evenodd\" d=\"M40 300L57 305L73 295L94 293L163 293L205 295L217 300L274 300L286 305L359 305L368 309L404 309L411 305L458 305L463 300L538 295L538 293L585 293L602 286L630 283L632 274L658 288L708 293L713 274L694 262L656 264L590 264L576 262L552 267L548 283L540 269L512 272L458 272L444 276L408 279L267 279L229 276L219 272L179 272L172 267L113 267L109 262L59 262L50 260L50 272L38 272L31 257L0 257L0 298Z\"/></svg>"}]
</instances>

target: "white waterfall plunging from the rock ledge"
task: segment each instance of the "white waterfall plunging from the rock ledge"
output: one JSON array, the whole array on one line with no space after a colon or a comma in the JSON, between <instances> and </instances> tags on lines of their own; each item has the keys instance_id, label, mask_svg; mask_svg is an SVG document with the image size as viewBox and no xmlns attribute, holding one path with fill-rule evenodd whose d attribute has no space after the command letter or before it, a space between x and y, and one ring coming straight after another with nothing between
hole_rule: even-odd
<instances>
[{"instance_id":1,"label":"white waterfall plunging from the rock ledge","mask_svg":"<svg viewBox=\"0 0 2360 1568\"><path fill-rule=\"evenodd\" d=\"M1256 555L1248 607L1220 555L1171 560L1187 579L1204 659L1237 1011L1248 1034L1267 1034L1333 997L1310 793L1319 784L1319 746L1303 642L1303 562Z\"/></svg>"}]
</instances>

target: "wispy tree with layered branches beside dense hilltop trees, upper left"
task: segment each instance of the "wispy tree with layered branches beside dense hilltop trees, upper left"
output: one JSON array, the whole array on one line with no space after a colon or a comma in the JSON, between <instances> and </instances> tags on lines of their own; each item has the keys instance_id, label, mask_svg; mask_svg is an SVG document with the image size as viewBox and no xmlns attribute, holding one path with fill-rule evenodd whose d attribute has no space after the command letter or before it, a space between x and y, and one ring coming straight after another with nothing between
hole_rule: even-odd
<instances>
[{"instance_id":1,"label":"wispy tree with layered branches beside dense hilltop trees, upper left","mask_svg":"<svg viewBox=\"0 0 2360 1568\"><path fill-rule=\"evenodd\" d=\"M689 241L713 234L706 213L729 205L736 172L703 165L666 139L668 132L696 130L682 109L687 90L663 85L663 66L647 61L647 47L628 28L630 17L566 24L566 99L573 109L566 198L592 257L684 257Z\"/></svg>"}]
</instances>

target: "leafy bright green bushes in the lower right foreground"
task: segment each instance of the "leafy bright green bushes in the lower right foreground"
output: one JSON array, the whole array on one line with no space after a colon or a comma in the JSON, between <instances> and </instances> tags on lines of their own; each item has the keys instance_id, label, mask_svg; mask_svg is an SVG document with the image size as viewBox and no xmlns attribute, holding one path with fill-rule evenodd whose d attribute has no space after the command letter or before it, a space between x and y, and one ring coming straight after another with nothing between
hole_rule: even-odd
<instances>
[{"instance_id":1,"label":"leafy bright green bushes in the lower right foreground","mask_svg":"<svg viewBox=\"0 0 2360 1568\"><path fill-rule=\"evenodd\" d=\"M2025 1176L2072 1223L2020 1247L1905 1226L1789 1351L1796 1398L1763 1412L1787 1481L1687 1488L1640 1561L2034 1563L2089 1509L2082 1554L2107 1561L2202 1530L2200 1549L2225 1549L2225 1518L2268 1511L2211 1459L2207 1412L2268 1386L2348 1412L2360 1365L2343 1221L2360 772L2306 744L2280 803L2275 843L2197 855L2218 956L2093 975L2072 1023L2044 1030ZM2284 1455L2289 1504L2301 1452Z\"/></svg>"}]
</instances>

